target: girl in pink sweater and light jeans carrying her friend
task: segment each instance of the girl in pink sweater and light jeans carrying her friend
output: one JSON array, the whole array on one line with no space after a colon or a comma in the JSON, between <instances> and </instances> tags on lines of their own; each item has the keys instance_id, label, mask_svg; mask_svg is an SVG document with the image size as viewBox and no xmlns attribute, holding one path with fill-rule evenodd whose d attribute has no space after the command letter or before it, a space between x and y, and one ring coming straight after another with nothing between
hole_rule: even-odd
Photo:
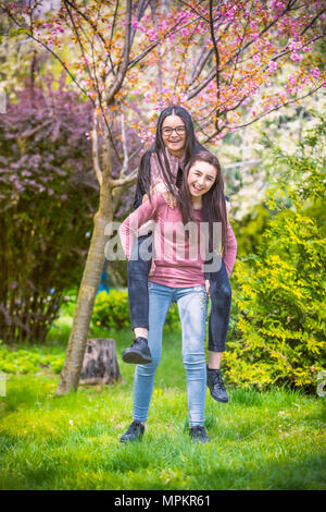
<instances>
[{"instance_id":1,"label":"girl in pink sweater and light jeans carrying her friend","mask_svg":"<svg viewBox=\"0 0 326 512\"><path fill-rule=\"evenodd\" d=\"M190 159L184 172L183 185L176 208L170 208L161 194L154 194L121 225L120 236L127 257L133 246L131 234L149 220L155 222L154 269L149 277L149 359L135 371L134 420L121 437L122 442L141 439L153 389L156 367L161 358L162 331L170 304L178 305L183 329L183 361L187 375L189 405L189 434L191 439L208 442L204 420L206 368L204 334L206 291L204 264L208 252L214 264L222 263L214 240L214 227L223 219L220 241L228 272L235 263L236 239L228 223L223 193L223 179L216 157L208 151ZM204 225L205 223L205 225ZM184 227L190 228L185 236ZM203 230L203 228L209 228ZM206 242L202 251L201 241ZM152 254L149 255L152 257ZM216 265L212 271L216 269ZM206 284L206 288L205 288ZM146 341L146 340L145 340ZM143 346L141 348L143 351ZM128 351L128 349L127 349Z\"/></svg>"}]
</instances>

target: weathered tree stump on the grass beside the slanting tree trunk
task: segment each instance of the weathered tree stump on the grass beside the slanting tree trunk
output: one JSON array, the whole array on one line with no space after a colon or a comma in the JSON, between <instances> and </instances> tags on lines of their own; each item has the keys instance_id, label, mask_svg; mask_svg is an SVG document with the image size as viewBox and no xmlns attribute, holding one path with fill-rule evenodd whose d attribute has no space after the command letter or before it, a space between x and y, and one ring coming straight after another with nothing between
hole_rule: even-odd
<instances>
[{"instance_id":1,"label":"weathered tree stump on the grass beside the slanting tree trunk","mask_svg":"<svg viewBox=\"0 0 326 512\"><path fill-rule=\"evenodd\" d=\"M80 385L111 383L122 380L115 351L115 340L91 338L87 340Z\"/></svg>"}]
</instances>

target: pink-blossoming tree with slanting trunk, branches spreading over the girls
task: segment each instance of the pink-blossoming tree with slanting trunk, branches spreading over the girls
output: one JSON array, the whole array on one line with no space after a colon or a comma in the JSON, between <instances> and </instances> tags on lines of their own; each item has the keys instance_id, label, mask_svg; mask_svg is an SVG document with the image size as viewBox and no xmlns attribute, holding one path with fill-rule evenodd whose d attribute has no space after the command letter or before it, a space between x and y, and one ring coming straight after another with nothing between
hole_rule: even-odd
<instances>
[{"instance_id":1,"label":"pink-blossoming tree with slanting trunk, branches spreading over the girls","mask_svg":"<svg viewBox=\"0 0 326 512\"><path fill-rule=\"evenodd\" d=\"M322 0L29 0L0 1L0 9L15 27L12 35L23 33L46 48L93 106L100 204L58 388L63 394L78 386L104 228L136 179L126 124L150 142L158 110L179 103L191 111L201 142L215 143L313 94L325 84L314 49L326 13ZM114 138L117 123L121 136ZM112 151L121 161L117 178Z\"/></svg>"}]
</instances>

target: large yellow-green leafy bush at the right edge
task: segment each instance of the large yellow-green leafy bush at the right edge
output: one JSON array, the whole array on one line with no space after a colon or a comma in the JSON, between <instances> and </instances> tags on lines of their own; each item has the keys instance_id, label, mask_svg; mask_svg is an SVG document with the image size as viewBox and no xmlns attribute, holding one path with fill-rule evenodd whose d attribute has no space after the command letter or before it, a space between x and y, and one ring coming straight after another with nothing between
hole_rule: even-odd
<instances>
[{"instance_id":1,"label":"large yellow-green leafy bush at the right edge","mask_svg":"<svg viewBox=\"0 0 326 512\"><path fill-rule=\"evenodd\" d=\"M242 337L228 342L224 358L235 383L312 391L326 367L326 242L322 222L309 215L325 196L319 147L325 145L325 121L316 132L318 137L305 137L296 156L274 150L279 175L272 205L277 214L258 254L235 267Z\"/></svg>"}]
</instances>

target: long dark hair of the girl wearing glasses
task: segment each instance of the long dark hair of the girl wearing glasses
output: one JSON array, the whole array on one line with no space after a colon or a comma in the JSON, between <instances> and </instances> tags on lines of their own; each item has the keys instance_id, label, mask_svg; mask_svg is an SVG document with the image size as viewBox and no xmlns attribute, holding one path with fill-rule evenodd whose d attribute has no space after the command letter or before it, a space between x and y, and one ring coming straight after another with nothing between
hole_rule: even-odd
<instances>
[{"instance_id":1,"label":"long dark hair of the girl wearing glasses","mask_svg":"<svg viewBox=\"0 0 326 512\"><path fill-rule=\"evenodd\" d=\"M186 146L185 146L185 163L190 160L190 158L199 151L204 150L203 146L199 143L195 135L195 127L193 122L191 119L190 113L184 109L184 107L178 107L176 105L172 105L171 107L166 107L160 113L158 124L156 124L156 134L155 139L151 147L142 155L139 163L139 171L138 171L138 181L137 181L137 190L140 193L148 194L150 197L150 188L151 188L151 168L150 168L150 159L151 155L155 153L158 155L159 163L162 169L163 179L170 190L170 192L175 195L174 188L172 187L173 176L170 169L168 160L166 157L167 149L165 148L163 138L162 138L162 124L167 115L178 115L185 123L186 126ZM164 162L161 161L160 151L163 153Z\"/></svg>"}]
</instances>

